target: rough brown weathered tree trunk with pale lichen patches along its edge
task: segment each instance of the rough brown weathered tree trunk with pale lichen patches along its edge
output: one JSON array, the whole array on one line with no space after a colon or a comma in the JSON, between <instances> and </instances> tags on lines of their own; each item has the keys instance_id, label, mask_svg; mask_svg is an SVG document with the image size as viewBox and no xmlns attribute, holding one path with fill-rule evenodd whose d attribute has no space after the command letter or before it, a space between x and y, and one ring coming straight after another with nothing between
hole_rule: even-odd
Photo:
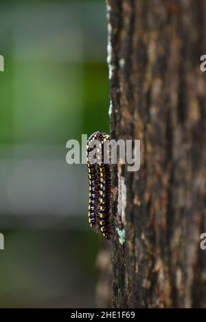
<instances>
[{"instance_id":1,"label":"rough brown weathered tree trunk with pale lichen patches along its edge","mask_svg":"<svg viewBox=\"0 0 206 322\"><path fill-rule=\"evenodd\" d=\"M113 166L113 306L206 307L206 1L106 5L111 137L141 140Z\"/></svg>"}]
</instances>

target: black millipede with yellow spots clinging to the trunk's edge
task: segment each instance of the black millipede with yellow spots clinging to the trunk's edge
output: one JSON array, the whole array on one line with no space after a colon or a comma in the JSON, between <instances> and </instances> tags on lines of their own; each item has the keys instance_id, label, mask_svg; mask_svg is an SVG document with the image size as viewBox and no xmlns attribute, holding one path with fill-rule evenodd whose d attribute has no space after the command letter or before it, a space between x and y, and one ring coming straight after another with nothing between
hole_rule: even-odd
<instances>
[{"instance_id":1,"label":"black millipede with yellow spots clinging to the trunk's edge","mask_svg":"<svg viewBox=\"0 0 206 322\"><path fill-rule=\"evenodd\" d=\"M89 175L89 225L106 239L111 239L110 201L111 166L108 143L110 136L95 132L87 141L87 167ZM108 163L104 162L107 158Z\"/></svg>"}]
</instances>

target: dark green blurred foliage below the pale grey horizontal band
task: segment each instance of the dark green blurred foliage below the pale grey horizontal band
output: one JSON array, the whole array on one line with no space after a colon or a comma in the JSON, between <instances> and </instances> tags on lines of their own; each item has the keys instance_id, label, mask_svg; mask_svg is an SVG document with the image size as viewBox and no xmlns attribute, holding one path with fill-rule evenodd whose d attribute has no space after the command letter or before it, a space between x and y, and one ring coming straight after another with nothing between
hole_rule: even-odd
<instances>
[{"instance_id":1,"label":"dark green blurred foliage below the pale grey horizontal band","mask_svg":"<svg viewBox=\"0 0 206 322\"><path fill-rule=\"evenodd\" d=\"M100 239L94 234L67 230L2 233L0 308L95 304L95 257Z\"/></svg>"}]
</instances>

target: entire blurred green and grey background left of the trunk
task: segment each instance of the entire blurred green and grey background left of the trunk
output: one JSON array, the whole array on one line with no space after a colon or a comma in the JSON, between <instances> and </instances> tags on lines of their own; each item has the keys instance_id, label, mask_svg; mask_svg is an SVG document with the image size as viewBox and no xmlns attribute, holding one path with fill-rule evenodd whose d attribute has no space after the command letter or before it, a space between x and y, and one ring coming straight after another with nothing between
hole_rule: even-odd
<instances>
[{"instance_id":1,"label":"entire blurred green and grey background left of the trunk","mask_svg":"<svg viewBox=\"0 0 206 322\"><path fill-rule=\"evenodd\" d=\"M95 307L102 243L69 139L109 131L104 1L1 1L0 307Z\"/></svg>"}]
</instances>

